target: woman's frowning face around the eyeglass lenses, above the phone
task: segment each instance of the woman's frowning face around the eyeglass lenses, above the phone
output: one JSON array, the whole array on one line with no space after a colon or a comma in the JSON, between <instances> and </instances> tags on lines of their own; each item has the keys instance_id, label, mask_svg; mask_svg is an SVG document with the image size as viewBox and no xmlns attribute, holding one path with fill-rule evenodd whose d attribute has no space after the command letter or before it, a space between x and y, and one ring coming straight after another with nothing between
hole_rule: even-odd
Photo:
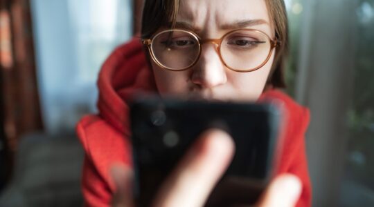
<instances>
[{"instance_id":1,"label":"woman's frowning face around the eyeglass lenses, above the phone","mask_svg":"<svg viewBox=\"0 0 374 207\"><path fill-rule=\"evenodd\" d=\"M246 25L251 20L260 21ZM181 0L177 25L188 26L188 30L194 28L193 32L202 39L219 39L236 28L260 30L274 39L274 27L265 0ZM199 60L188 70L165 70L154 61L151 62L156 85L162 96L256 101L265 87L274 53L275 50L265 66L253 72L235 72L226 68L213 43L202 45Z\"/></svg>"}]
</instances>

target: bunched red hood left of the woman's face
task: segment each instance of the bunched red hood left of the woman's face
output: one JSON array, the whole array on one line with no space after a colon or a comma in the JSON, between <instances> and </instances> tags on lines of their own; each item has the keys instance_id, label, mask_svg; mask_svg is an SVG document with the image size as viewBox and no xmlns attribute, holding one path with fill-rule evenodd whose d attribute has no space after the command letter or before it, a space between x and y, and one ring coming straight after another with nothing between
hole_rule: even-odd
<instances>
[{"instance_id":1,"label":"bunched red hood left of the woman's face","mask_svg":"<svg viewBox=\"0 0 374 207\"><path fill-rule=\"evenodd\" d=\"M133 38L116 48L100 70L97 103L100 117L129 135L126 100L139 90L156 92L156 87L140 39Z\"/></svg>"}]
</instances>

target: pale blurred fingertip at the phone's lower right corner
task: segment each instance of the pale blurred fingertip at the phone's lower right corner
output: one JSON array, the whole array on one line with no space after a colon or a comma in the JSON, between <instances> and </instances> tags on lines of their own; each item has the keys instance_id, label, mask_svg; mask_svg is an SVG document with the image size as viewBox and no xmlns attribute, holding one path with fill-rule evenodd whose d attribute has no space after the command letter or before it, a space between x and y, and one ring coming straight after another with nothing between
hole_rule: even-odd
<instances>
[{"instance_id":1,"label":"pale blurred fingertip at the phone's lower right corner","mask_svg":"<svg viewBox=\"0 0 374 207\"><path fill-rule=\"evenodd\" d=\"M301 194L299 177L284 174L276 177L267 188L258 207L291 207L295 206Z\"/></svg>"}]
</instances>

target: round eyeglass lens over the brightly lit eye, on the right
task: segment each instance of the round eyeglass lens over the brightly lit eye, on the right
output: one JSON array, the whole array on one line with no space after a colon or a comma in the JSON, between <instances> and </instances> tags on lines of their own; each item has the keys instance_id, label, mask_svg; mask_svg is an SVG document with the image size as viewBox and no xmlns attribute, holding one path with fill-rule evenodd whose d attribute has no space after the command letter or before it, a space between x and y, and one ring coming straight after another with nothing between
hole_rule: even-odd
<instances>
[{"instance_id":1,"label":"round eyeglass lens over the brightly lit eye, on the right","mask_svg":"<svg viewBox=\"0 0 374 207\"><path fill-rule=\"evenodd\" d=\"M265 63L271 43L269 37L258 30L236 30L226 34L220 50L229 68L251 71Z\"/></svg>"}]
</instances>

